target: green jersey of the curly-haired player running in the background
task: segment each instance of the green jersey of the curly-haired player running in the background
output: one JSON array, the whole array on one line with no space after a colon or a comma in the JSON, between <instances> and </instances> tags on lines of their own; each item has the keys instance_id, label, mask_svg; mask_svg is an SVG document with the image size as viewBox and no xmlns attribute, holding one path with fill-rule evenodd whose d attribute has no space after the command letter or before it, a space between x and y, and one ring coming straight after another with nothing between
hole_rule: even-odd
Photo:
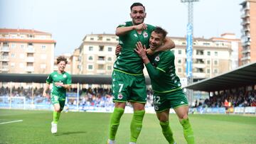
<instances>
[{"instance_id":1,"label":"green jersey of the curly-haired player running in the background","mask_svg":"<svg viewBox=\"0 0 256 144\"><path fill-rule=\"evenodd\" d=\"M52 72L46 79L46 83L53 83L53 89L50 92L50 95L59 96L60 99L65 100L66 89L64 87L55 86L55 82L63 82L63 84L71 85L71 76L68 72L63 72L62 74L58 72Z\"/></svg>"}]
</instances>

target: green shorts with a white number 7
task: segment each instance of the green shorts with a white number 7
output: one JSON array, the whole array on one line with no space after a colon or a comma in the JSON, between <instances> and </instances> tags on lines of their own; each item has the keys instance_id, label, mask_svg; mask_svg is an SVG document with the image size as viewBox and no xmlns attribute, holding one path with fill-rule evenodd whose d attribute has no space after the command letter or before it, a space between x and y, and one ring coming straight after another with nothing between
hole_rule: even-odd
<instances>
[{"instance_id":1,"label":"green shorts with a white number 7","mask_svg":"<svg viewBox=\"0 0 256 144\"><path fill-rule=\"evenodd\" d=\"M119 70L112 72L114 102L146 103L146 82L144 74L129 74Z\"/></svg>"}]
</instances>

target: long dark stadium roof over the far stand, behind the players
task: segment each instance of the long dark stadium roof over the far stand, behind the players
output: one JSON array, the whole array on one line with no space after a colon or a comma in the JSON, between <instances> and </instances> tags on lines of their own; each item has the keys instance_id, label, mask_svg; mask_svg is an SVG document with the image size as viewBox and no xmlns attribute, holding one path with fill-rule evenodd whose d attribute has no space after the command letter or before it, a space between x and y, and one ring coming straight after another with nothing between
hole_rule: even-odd
<instances>
[{"instance_id":1,"label":"long dark stadium roof over the far stand, behind the players","mask_svg":"<svg viewBox=\"0 0 256 144\"><path fill-rule=\"evenodd\" d=\"M10 74L0 73L0 82L36 82L45 83L48 74ZM71 74L73 84L111 84L111 75ZM150 84L146 77L146 84Z\"/></svg>"}]
</instances>

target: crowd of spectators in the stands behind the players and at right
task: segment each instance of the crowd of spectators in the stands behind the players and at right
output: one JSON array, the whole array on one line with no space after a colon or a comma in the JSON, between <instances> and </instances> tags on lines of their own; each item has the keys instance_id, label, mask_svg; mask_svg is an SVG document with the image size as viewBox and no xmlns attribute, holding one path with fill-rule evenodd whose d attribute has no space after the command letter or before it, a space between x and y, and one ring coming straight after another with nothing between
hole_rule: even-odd
<instances>
[{"instance_id":1,"label":"crowd of spectators in the stands behind the players and at right","mask_svg":"<svg viewBox=\"0 0 256 144\"><path fill-rule=\"evenodd\" d=\"M11 93L11 94L10 94ZM33 96L32 96L33 94ZM46 99L42 96L43 87L32 89L24 89L23 87L1 87L0 96L25 96L26 104L50 104L50 99ZM112 90L104 88L89 88L81 89L79 92L79 103L77 101L77 89L70 89L67 93L68 104L70 106L79 104L80 106L113 106L112 102ZM256 106L256 90L250 91L224 91L219 94L213 94L201 102L196 102L196 106L203 107L224 107L225 100L231 104L231 106ZM127 103L129 105L129 103ZM153 92L152 89L147 90L146 106L153 106Z\"/></svg>"}]
</instances>

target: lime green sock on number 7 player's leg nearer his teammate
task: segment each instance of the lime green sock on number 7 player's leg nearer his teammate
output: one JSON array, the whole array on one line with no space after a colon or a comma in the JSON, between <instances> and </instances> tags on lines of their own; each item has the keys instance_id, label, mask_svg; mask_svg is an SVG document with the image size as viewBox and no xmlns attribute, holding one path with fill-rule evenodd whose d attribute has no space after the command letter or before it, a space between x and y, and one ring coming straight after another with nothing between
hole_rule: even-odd
<instances>
[{"instance_id":1,"label":"lime green sock on number 7 player's leg nearer his teammate","mask_svg":"<svg viewBox=\"0 0 256 144\"><path fill-rule=\"evenodd\" d=\"M132 117L131 122L131 138L130 142L137 142L137 138L139 137L139 133L142 131L142 121L144 117L145 111L134 111L134 115Z\"/></svg>"}]
</instances>

